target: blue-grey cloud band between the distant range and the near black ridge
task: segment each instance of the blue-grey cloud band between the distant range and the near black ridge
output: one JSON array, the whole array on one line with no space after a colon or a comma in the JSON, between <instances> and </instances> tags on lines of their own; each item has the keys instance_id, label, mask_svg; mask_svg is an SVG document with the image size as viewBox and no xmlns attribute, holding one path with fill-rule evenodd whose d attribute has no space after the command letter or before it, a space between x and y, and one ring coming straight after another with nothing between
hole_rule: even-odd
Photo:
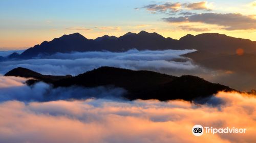
<instances>
[{"instance_id":1,"label":"blue-grey cloud band between the distant range and the near black ridge","mask_svg":"<svg viewBox=\"0 0 256 143\"><path fill-rule=\"evenodd\" d=\"M5 61L1 62L0 74L18 66L29 68L46 75L78 75L100 66L114 66L129 69L154 70L170 74L190 71L193 73L198 66L180 55L195 50L164 50L164 51L138 51L129 50L122 53L114 52L84 52L63 54L57 53L47 58ZM180 59L181 61L174 61Z\"/></svg>"}]
</instances>

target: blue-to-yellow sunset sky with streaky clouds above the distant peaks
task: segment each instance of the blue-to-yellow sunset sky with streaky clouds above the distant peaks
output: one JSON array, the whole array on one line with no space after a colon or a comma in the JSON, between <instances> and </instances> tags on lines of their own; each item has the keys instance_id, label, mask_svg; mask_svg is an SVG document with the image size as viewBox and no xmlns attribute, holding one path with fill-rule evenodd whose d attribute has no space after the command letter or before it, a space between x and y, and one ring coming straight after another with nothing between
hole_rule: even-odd
<instances>
[{"instance_id":1,"label":"blue-to-yellow sunset sky with streaky clouds above the distant peaks","mask_svg":"<svg viewBox=\"0 0 256 143\"><path fill-rule=\"evenodd\" d=\"M1 0L0 50L27 49L63 34L221 33L256 41L256 1Z\"/></svg>"}]
</instances>

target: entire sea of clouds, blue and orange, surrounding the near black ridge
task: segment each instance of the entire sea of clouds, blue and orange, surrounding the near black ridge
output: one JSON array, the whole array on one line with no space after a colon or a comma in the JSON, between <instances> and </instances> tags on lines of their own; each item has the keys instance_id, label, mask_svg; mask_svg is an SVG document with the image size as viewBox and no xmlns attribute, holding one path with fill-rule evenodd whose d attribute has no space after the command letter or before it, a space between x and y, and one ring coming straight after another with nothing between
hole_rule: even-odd
<instances>
[{"instance_id":1,"label":"entire sea of clouds, blue and orange, surrounding the near black ridge","mask_svg":"<svg viewBox=\"0 0 256 143\"><path fill-rule=\"evenodd\" d=\"M180 56L188 52L193 50L58 53L1 62L0 74L18 66L49 75L77 75L100 66L216 74ZM0 76L0 142L256 142L252 94L219 92L204 104L127 101L120 98L126 91L118 87L53 88L44 82L27 86L26 80ZM197 137L191 132L196 124L247 130Z\"/></svg>"}]
</instances>

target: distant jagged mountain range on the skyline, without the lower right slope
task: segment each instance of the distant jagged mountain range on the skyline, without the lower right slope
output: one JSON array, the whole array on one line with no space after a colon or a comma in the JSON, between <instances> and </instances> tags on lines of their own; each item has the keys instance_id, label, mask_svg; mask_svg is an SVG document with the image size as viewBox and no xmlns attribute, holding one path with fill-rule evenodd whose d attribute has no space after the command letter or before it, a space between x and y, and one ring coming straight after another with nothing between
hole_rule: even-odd
<instances>
[{"instance_id":1,"label":"distant jagged mountain range on the skyline, without the lower right slope","mask_svg":"<svg viewBox=\"0 0 256 143\"><path fill-rule=\"evenodd\" d=\"M57 52L69 53L72 51L113 51L123 52L130 49L137 50L184 50L196 49L210 51L216 54L234 54L238 48L244 49L247 53L256 53L256 41L248 39L229 37L218 33L205 33L196 36L186 35L179 40L164 38L157 33L126 33L118 38L114 36L102 36L95 40L87 39L79 33L63 35L52 41L44 41L40 45L29 48L19 58L32 58L39 54L48 55Z\"/></svg>"}]
</instances>

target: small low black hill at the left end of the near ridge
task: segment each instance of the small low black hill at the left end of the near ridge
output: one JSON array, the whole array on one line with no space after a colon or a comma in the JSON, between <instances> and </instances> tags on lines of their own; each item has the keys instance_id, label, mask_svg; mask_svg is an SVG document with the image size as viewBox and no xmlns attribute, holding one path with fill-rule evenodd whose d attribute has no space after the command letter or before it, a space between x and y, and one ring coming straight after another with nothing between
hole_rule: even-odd
<instances>
[{"instance_id":1,"label":"small low black hill at the left end of the near ridge","mask_svg":"<svg viewBox=\"0 0 256 143\"><path fill-rule=\"evenodd\" d=\"M61 80L61 79L66 79L72 77L71 75L66 75L66 76L51 76L51 75L41 75L33 70L23 68L23 67L17 67L14 68L8 73L5 74L5 76L15 76L15 77L23 77L23 78L35 78L39 81L44 81L47 83L51 83L53 81Z\"/></svg>"}]
</instances>

